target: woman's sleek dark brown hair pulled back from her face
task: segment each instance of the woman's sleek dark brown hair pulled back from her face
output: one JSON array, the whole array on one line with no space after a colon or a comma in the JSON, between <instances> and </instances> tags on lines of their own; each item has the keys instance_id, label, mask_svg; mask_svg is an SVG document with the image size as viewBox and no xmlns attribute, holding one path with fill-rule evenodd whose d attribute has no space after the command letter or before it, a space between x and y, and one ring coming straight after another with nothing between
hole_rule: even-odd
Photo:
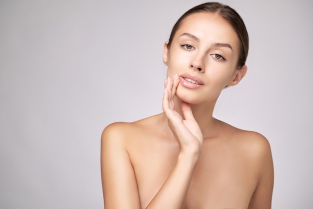
<instances>
[{"instance_id":1,"label":"woman's sleek dark brown hair pulled back from her face","mask_svg":"<svg viewBox=\"0 0 313 209\"><path fill-rule=\"evenodd\" d=\"M243 20L239 16L239 14L232 8L227 5L223 5L217 2L208 2L201 5L198 5L194 8L191 8L187 12L185 12L175 23L174 27L171 30L167 48L169 49L171 42L174 38L176 31L178 30L181 22L189 15L193 13L200 13L200 12L209 12L209 13L217 13L220 17L222 17L225 21L227 21L236 32L238 39L239 39L239 58L237 62L237 68L241 69L242 66L245 64L246 57L248 55L248 48L249 48L249 37L246 31L245 25Z\"/></svg>"}]
</instances>

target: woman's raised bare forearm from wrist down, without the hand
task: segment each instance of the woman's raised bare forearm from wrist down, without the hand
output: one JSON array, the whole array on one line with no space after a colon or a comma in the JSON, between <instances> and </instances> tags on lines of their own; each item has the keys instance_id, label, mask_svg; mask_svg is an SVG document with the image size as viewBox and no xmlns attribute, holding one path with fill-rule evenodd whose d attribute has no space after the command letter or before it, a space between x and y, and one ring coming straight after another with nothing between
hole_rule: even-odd
<instances>
[{"instance_id":1,"label":"woman's raised bare forearm from wrist down, without the hand","mask_svg":"<svg viewBox=\"0 0 313 209\"><path fill-rule=\"evenodd\" d=\"M180 209L186 197L198 154L180 153L169 176L146 209Z\"/></svg>"}]
</instances>

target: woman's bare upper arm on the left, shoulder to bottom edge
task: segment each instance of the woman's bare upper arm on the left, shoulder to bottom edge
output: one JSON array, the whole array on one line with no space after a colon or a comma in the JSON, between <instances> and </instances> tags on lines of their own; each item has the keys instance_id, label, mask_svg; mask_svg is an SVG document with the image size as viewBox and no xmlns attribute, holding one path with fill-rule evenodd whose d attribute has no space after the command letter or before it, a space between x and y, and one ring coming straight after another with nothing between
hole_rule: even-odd
<instances>
[{"instance_id":1,"label":"woman's bare upper arm on the left, shoulder to bottom edge","mask_svg":"<svg viewBox=\"0 0 313 209\"><path fill-rule=\"evenodd\" d=\"M134 171L121 134L121 124L107 126L101 136L101 178L105 209L140 208Z\"/></svg>"}]
</instances>

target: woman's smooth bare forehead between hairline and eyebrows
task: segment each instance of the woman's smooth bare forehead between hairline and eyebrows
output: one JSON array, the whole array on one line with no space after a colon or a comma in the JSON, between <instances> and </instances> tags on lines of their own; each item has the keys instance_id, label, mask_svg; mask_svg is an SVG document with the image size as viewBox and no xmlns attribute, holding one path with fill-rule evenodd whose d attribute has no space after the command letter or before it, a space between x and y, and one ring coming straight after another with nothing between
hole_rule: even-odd
<instances>
[{"instance_id":1,"label":"woman's smooth bare forehead between hairline and eyebrows","mask_svg":"<svg viewBox=\"0 0 313 209\"><path fill-rule=\"evenodd\" d=\"M232 26L217 13L200 12L187 16L179 25L174 37L190 33L200 42L228 43L238 48L239 40Z\"/></svg>"}]
</instances>

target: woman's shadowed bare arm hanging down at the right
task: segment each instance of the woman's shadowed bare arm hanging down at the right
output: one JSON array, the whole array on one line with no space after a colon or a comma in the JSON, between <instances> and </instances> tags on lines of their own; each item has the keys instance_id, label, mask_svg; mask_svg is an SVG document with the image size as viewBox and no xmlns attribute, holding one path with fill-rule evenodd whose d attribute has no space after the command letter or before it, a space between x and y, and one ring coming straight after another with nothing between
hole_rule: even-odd
<instances>
[{"instance_id":1,"label":"woman's shadowed bare arm hanging down at the right","mask_svg":"<svg viewBox=\"0 0 313 209\"><path fill-rule=\"evenodd\" d=\"M270 209L273 191L274 170L270 146L263 136L258 144L257 158L260 167L259 180L251 196L248 209Z\"/></svg>"}]
</instances>

